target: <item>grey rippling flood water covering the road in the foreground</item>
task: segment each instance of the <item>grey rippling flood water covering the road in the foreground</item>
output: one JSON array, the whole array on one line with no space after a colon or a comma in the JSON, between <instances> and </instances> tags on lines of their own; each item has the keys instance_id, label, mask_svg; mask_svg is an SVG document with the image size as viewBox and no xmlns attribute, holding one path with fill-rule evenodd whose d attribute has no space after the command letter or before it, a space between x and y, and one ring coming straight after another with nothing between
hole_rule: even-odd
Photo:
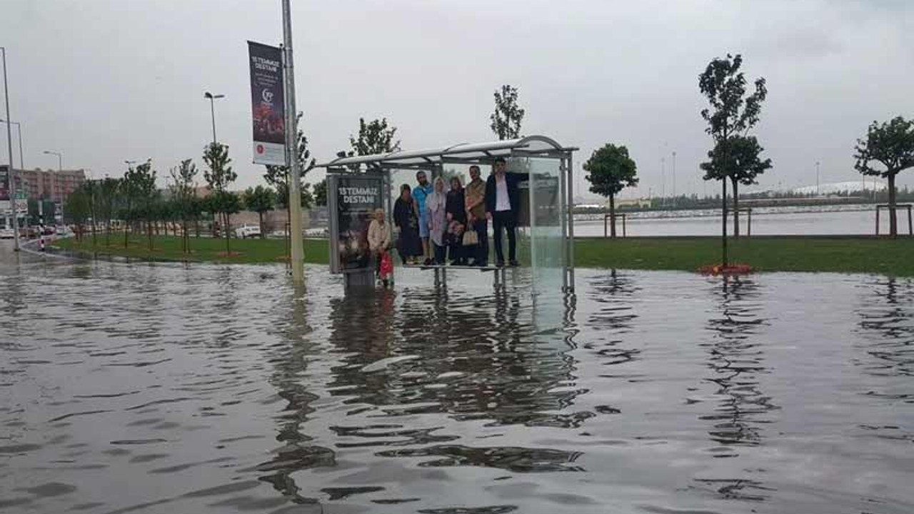
<instances>
[{"instance_id":1,"label":"grey rippling flood water covering the road in the foreground","mask_svg":"<svg viewBox=\"0 0 914 514\"><path fill-rule=\"evenodd\" d=\"M0 512L914 511L909 279L0 263Z\"/></svg>"}]
</instances>

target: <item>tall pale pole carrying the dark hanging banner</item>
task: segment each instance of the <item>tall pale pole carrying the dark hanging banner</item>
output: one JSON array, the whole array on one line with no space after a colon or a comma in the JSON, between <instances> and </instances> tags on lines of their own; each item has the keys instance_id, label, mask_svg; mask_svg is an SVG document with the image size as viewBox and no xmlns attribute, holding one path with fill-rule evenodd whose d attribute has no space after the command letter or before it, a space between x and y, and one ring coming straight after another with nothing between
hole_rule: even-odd
<instances>
[{"instance_id":1,"label":"tall pale pole carrying the dark hanging banner","mask_svg":"<svg viewBox=\"0 0 914 514\"><path fill-rule=\"evenodd\" d=\"M290 245L292 246L292 283L304 282L304 249L302 241L302 163L298 161L298 119L295 115L295 67L292 59L292 8L289 0L282 0L282 63L285 77L285 136L286 164L289 166L289 220Z\"/></svg>"}]
</instances>

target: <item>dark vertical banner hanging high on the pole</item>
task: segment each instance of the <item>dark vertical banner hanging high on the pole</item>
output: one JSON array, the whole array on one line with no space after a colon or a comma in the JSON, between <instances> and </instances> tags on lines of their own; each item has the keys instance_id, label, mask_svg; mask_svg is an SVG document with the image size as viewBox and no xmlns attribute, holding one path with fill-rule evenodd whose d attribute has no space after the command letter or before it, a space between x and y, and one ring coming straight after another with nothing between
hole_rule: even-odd
<instances>
[{"instance_id":1,"label":"dark vertical banner hanging high on the pole","mask_svg":"<svg viewBox=\"0 0 914 514\"><path fill-rule=\"evenodd\" d=\"M282 49L248 41L254 164L285 166Z\"/></svg>"}]
</instances>

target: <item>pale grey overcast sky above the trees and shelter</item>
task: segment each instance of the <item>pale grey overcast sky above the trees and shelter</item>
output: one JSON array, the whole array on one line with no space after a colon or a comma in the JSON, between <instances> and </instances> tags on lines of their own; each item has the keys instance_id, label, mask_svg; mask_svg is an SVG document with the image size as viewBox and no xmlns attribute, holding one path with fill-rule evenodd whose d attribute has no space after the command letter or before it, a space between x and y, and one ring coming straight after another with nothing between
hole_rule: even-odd
<instances>
[{"instance_id":1,"label":"pale grey overcast sky above the trees and shelter","mask_svg":"<svg viewBox=\"0 0 914 514\"><path fill-rule=\"evenodd\" d=\"M226 95L218 139L239 187L260 183L246 41L281 41L280 5L2 0L26 166L56 166L47 149L95 177L121 175L125 159L153 157L160 177L180 159L202 166L208 90ZM677 192L702 194L711 144L697 76L728 52L743 54L749 80L768 80L756 134L774 167L762 186L814 184L817 160L823 182L859 179L866 125L914 116L909 0L292 0L292 16L298 108L319 160L348 146L359 116L386 116L403 149L492 140L492 93L510 83L523 133L579 146L577 168L604 143L627 145L641 185L626 196L669 194L675 151Z\"/></svg>"}]
</instances>

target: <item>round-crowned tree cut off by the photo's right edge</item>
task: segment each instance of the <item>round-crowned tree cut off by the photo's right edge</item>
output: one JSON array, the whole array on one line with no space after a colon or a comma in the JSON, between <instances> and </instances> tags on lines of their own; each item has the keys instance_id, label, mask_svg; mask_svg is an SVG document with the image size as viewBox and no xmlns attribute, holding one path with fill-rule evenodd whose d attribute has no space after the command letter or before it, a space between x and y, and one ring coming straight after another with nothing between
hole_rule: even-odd
<instances>
[{"instance_id":1,"label":"round-crowned tree cut off by the photo's right edge","mask_svg":"<svg viewBox=\"0 0 914 514\"><path fill-rule=\"evenodd\" d=\"M895 177L898 172L914 167L914 120L901 116L887 123L870 123L866 137L858 139L854 167L862 175L888 180L888 231L898 237L895 212Z\"/></svg>"}]
</instances>

